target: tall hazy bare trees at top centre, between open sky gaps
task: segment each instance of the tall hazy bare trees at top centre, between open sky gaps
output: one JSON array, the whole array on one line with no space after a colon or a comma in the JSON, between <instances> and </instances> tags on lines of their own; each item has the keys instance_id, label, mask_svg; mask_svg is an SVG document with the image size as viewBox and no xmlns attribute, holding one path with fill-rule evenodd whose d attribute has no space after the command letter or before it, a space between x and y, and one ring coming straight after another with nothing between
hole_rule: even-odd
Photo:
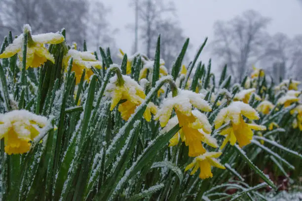
<instances>
[{"instance_id":1,"label":"tall hazy bare trees at top centre, between open sky gaps","mask_svg":"<svg viewBox=\"0 0 302 201\"><path fill-rule=\"evenodd\" d=\"M131 0L130 2L130 6L135 11L135 23L132 26L135 39L132 53L138 51L138 41L141 41L144 48L142 51L152 58L160 34L161 58L165 61L165 66L170 68L186 40L174 2L172 0Z\"/></svg>"}]
</instances>

